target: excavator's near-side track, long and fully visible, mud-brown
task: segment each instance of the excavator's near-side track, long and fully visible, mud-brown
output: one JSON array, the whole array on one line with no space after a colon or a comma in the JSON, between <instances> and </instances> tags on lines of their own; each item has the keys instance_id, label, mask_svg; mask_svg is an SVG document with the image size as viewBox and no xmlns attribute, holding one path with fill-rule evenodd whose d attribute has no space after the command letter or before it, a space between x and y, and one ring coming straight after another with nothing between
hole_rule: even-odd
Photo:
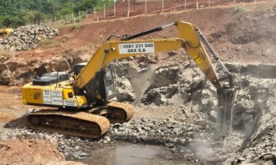
<instances>
[{"instance_id":1,"label":"excavator's near-side track, long and fully visible, mud-brown","mask_svg":"<svg viewBox=\"0 0 276 165\"><path fill-rule=\"evenodd\" d=\"M98 138L110 129L110 122L100 115L83 111L41 110L28 115L32 129Z\"/></svg>"}]
</instances>

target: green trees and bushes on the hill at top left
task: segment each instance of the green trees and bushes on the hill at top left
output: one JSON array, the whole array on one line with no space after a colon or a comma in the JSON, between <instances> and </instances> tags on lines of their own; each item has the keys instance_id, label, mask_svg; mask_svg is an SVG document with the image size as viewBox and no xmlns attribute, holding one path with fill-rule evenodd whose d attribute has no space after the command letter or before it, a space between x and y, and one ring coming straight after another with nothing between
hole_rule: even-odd
<instances>
[{"instance_id":1,"label":"green trees and bushes on the hill at top left","mask_svg":"<svg viewBox=\"0 0 276 165\"><path fill-rule=\"evenodd\" d=\"M5 0L0 3L0 26L17 28L19 25L36 23L36 21L77 14L79 11L93 8L102 10L103 3L110 7L112 0ZM81 13L81 17L85 13Z\"/></svg>"}]
</instances>

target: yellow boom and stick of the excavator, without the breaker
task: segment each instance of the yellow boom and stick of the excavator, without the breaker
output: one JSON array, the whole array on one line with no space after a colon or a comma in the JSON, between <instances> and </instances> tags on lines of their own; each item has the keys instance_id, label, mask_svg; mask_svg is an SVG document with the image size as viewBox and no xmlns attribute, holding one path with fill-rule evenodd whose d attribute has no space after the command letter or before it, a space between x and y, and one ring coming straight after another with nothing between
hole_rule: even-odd
<instances>
[{"instance_id":1,"label":"yellow boom and stick of the excavator, without the breaker","mask_svg":"<svg viewBox=\"0 0 276 165\"><path fill-rule=\"evenodd\" d=\"M184 48L202 72L208 77L211 83L219 89L222 88L215 69L210 62L210 58L204 48L201 36L198 35L198 28L191 23L178 21L169 25L175 25L179 31L179 38L175 39L146 39L146 40L130 40L139 36L149 34L148 32L157 32L162 30L162 27L148 30L133 36L125 35L121 41L108 41L103 43L101 47L95 52L86 67L75 78L75 85L83 89L90 81L95 78L95 74L101 69L106 68L108 63L118 58L128 56L139 56L149 53L168 52L170 50L177 50ZM167 27L167 26L165 26ZM205 38L204 38L205 39ZM130 41L129 41L130 40ZM210 44L209 44L210 45ZM99 63L100 61L100 63ZM230 75L230 74L229 74Z\"/></svg>"}]
</instances>

